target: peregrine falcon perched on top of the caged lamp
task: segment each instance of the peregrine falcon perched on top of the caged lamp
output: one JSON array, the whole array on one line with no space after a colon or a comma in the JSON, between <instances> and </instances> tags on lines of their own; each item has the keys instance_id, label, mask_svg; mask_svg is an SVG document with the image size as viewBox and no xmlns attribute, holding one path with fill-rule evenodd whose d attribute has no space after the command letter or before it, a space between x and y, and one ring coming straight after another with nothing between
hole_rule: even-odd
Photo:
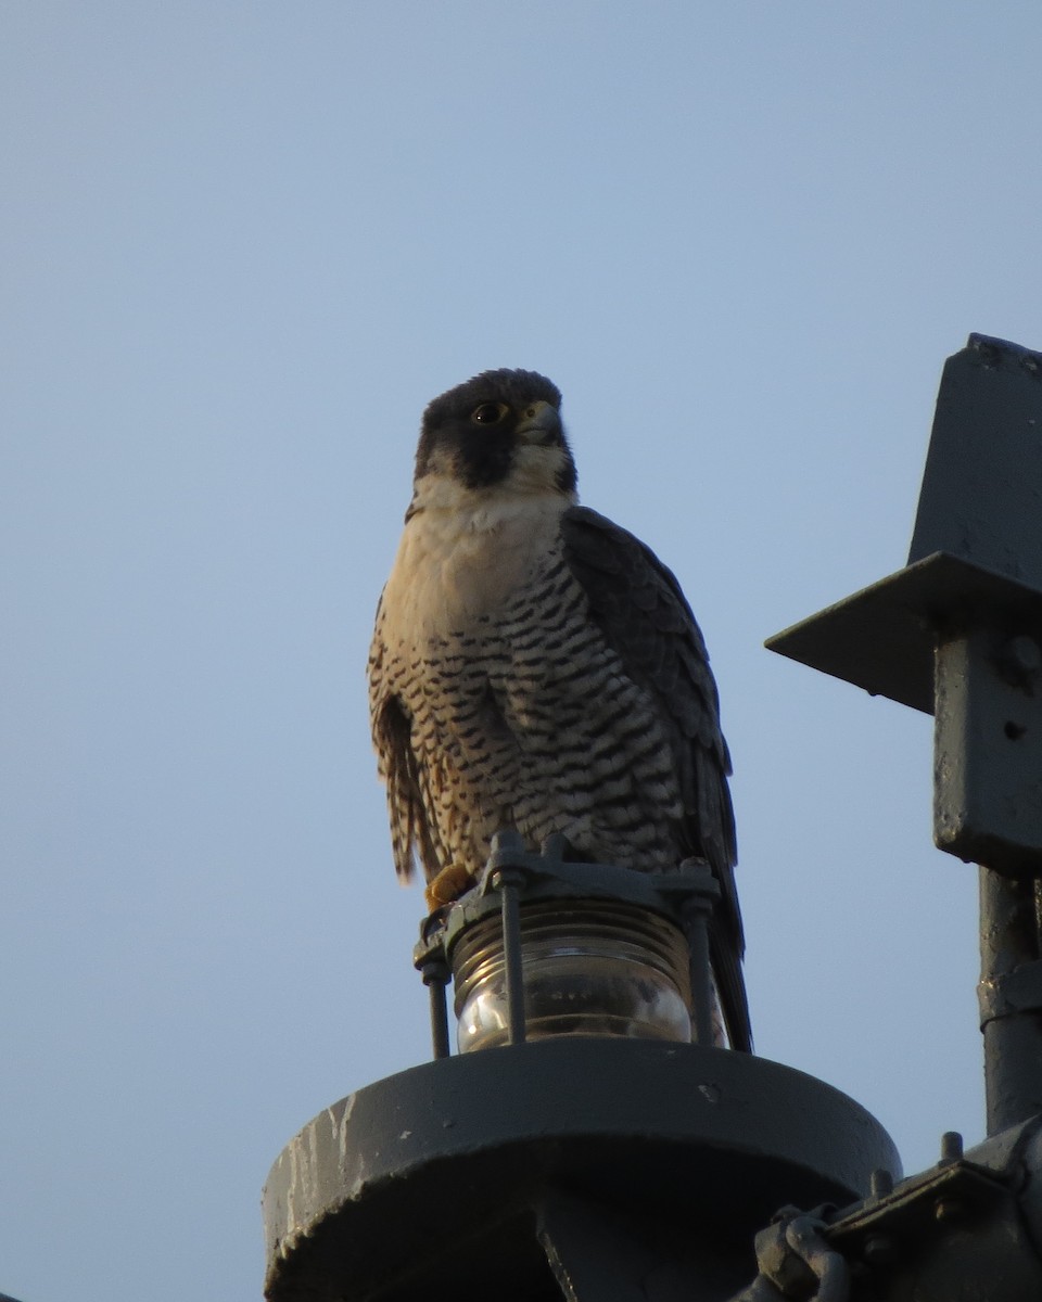
<instances>
[{"instance_id":1,"label":"peregrine falcon perched on top of the caged lamp","mask_svg":"<svg viewBox=\"0 0 1042 1302\"><path fill-rule=\"evenodd\" d=\"M731 763L705 642L672 573L578 505L557 388L486 371L423 413L413 497L376 611L373 740L395 867L431 906L494 832L563 832L591 862L720 885L711 961L732 1047L750 1048Z\"/></svg>"}]
</instances>

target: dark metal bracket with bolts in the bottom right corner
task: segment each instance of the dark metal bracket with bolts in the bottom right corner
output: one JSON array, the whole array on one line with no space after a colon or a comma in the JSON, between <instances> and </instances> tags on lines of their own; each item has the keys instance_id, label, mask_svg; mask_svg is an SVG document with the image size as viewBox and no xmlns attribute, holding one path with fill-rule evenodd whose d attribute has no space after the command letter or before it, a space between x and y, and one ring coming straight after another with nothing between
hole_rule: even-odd
<instances>
[{"instance_id":1,"label":"dark metal bracket with bolts in the bottom right corner","mask_svg":"<svg viewBox=\"0 0 1042 1302\"><path fill-rule=\"evenodd\" d=\"M1037 1302L1042 1297L1042 1120L961 1152L947 1134L940 1161L882 1195L809 1216L784 1208L757 1236L757 1280L733 1302L824 1302L824 1273L808 1272L793 1237L813 1233L817 1259L839 1255L834 1302ZM817 1275L815 1284L810 1275Z\"/></svg>"}]
</instances>

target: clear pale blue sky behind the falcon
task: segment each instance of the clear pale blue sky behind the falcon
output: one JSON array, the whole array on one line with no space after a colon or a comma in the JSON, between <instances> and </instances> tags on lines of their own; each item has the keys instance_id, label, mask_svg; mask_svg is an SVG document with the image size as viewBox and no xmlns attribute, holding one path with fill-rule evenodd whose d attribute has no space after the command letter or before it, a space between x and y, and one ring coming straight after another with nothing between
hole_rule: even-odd
<instances>
[{"instance_id":1,"label":"clear pale blue sky behind the falcon","mask_svg":"<svg viewBox=\"0 0 1042 1302\"><path fill-rule=\"evenodd\" d=\"M5 0L0 1290L259 1295L427 1056L363 664L423 405L548 374L681 579L761 1053L983 1131L926 716L763 638L905 560L943 359L1042 346L1042 9Z\"/></svg>"}]
</instances>

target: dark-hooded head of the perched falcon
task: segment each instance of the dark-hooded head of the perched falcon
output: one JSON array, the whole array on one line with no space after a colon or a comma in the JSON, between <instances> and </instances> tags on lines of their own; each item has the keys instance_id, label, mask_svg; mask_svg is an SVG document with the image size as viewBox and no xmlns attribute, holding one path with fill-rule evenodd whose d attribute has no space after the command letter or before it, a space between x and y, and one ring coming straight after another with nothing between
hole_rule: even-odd
<instances>
[{"instance_id":1,"label":"dark-hooded head of the perched falcon","mask_svg":"<svg viewBox=\"0 0 1042 1302\"><path fill-rule=\"evenodd\" d=\"M436 478L472 492L559 493L574 500L576 464L561 395L535 371L483 371L429 404L415 486Z\"/></svg>"}]
</instances>

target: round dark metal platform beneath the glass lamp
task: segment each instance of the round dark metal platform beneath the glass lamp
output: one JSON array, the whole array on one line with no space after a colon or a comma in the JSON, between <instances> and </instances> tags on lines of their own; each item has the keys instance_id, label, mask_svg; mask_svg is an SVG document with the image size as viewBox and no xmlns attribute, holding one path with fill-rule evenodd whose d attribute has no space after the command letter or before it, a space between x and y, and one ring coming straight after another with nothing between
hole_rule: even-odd
<instances>
[{"instance_id":1,"label":"round dark metal platform beneath the glass lamp","mask_svg":"<svg viewBox=\"0 0 1042 1302\"><path fill-rule=\"evenodd\" d=\"M719 1302L779 1203L848 1203L880 1167L900 1174L858 1104L746 1053L561 1036L461 1055L287 1146L266 1295Z\"/></svg>"}]
</instances>

